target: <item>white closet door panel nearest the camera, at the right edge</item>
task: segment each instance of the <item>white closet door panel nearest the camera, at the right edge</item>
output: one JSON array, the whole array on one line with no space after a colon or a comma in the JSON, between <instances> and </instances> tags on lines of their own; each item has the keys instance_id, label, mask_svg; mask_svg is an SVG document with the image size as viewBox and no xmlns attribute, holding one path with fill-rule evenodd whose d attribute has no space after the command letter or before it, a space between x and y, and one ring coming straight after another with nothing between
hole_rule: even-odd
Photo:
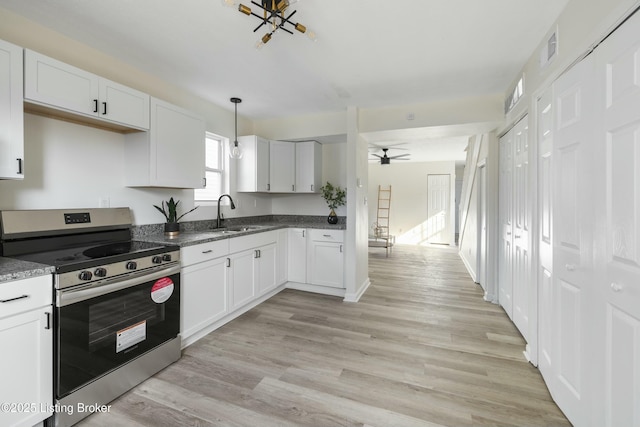
<instances>
[{"instance_id":1,"label":"white closet door panel nearest the camera, at the right edge","mask_svg":"<svg viewBox=\"0 0 640 427\"><path fill-rule=\"evenodd\" d=\"M640 16L596 50L596 114L602 117L596 159L595 313L602 330L595 423L640 425ZM602 197L600 197L600 194ZM602 208L600 208L602 207ZM598 331L600 335L600 331Z\"/></svg>"}]
</instances>

